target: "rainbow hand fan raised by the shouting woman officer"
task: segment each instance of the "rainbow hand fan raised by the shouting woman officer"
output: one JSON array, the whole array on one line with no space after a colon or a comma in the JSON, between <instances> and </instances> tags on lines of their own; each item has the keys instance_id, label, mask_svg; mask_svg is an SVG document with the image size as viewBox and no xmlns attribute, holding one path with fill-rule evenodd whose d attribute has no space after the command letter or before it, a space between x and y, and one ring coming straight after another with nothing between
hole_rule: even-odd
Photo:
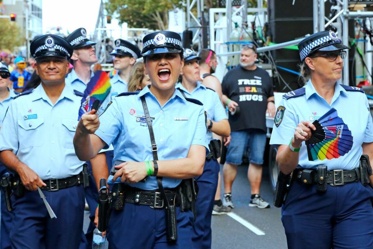
<instances>
[{"instance_id":1,"label":"rainbow hand fan raised by the shouting woman officer","mask_svg":"<svg viewBox=\"0 0 373 249\"><path fill-rule=\"evenodd\" d=\"M84 91L82 98L82 104L79 108L79 117L84 113L91 111L91 109L97 109L101 106L102 102L110 93L111 85L109 82L110 78L104 71L96 71L87 84L87 88Z\"/></svg>"}]
</instances>

